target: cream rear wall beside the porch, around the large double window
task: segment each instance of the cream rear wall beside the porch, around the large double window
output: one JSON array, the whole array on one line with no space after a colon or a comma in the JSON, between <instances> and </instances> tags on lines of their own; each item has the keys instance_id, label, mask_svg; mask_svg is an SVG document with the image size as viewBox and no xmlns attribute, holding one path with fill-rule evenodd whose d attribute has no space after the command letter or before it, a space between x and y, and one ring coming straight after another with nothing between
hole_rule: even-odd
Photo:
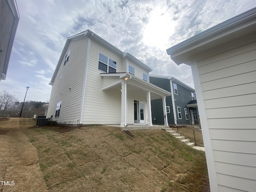
<instances>
[{"instance_id":1,"label":"cream rear wall beside the porch, around the large double window","mask_svg":"<svg viewBox=\"0 0 256 192\"><path fill-rule=\"evenodd\" d=\"M98 70L99 52L116 61L116 72L123 72L123 56L114 53L95 40L91 41L88 76L84 102L83 124L120 124L121 92L120 90L102 91L102 77ZM121 88L120 88L121 89Z\"/></svg>"}]
</instances>

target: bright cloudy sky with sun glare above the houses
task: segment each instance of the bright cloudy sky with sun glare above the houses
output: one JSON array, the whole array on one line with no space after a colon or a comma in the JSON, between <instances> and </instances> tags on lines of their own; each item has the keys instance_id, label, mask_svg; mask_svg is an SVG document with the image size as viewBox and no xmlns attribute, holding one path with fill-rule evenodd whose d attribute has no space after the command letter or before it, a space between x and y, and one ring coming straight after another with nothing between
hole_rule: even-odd
<instances>
[{"instance_id":1,"label":"bright cloudy sky with sun glare above the houses","mask_svg":"<svg viewBox=\"0 0 256 192\"><path fill-rule=\"evenodd\" d=\"M50 100L49 82L66 39L92 30L148 66L194 87L189 66L166 49L256 7L255 0L16 0L20 21L0 91Z\"/></svg>"}]
</instances>

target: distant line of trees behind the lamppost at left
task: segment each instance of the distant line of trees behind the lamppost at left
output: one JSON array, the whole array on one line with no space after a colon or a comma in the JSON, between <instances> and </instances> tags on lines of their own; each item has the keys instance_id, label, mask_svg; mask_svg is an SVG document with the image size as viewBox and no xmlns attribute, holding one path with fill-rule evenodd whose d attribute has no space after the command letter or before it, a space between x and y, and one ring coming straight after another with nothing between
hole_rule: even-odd
<instances>
[{"instance_id":1,"label":"distant line of trees behind the lamppost at left","mask_svg":"<svg viewBox=\"0 0 256 192\"><path fill-rule=\"evenodd\" d=\"M23 102L19 102L16 96L6 90L0 92L0 117L20 117ZM32 118L34 115L44 115L46 102L26 101L24 102L23 118Z\"/></svg>"}]
</instances>

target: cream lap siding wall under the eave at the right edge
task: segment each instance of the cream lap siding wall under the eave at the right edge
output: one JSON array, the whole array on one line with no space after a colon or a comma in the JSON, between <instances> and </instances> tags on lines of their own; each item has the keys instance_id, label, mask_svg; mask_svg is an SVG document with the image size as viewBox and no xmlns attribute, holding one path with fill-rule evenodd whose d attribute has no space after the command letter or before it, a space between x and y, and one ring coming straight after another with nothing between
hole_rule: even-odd
<instances>
[{"instance_id":1,"label":"cream lap siding wall under the eave at the right edge","mask_svg":"<svg viewBox=\"0 0 256 192\"><path fill-rule=\"evenodd\" d=\"M220 191L256 184L256 42L197 61Z\"/></svg>"}]
</instances>

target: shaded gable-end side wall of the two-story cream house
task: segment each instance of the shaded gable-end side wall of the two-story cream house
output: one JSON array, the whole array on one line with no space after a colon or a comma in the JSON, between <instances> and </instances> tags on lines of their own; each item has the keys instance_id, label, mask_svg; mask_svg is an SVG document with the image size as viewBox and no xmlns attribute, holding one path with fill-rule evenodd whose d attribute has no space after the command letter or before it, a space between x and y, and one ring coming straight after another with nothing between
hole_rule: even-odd
<instances>
[{"instance_id":1,"label":"shaded gable-end side wall of the two-story cream house","mask_svg":"<svg viewBox=\"0 0 256 192\"><path fill-rule=\"evenodd\" d=\"M70 42L68 62L64 59L52 85L47 117L53 116L58 122L74 122L80 116L88 38ZM65 56L66 56L65 54ZM64 57L65 57L64 56ZM62 78L60 78L62 76ZM69 90L69 87L71 88ZM55 118L56 104L62 101L60 116Z\"/></svg>"}]
</instances>

